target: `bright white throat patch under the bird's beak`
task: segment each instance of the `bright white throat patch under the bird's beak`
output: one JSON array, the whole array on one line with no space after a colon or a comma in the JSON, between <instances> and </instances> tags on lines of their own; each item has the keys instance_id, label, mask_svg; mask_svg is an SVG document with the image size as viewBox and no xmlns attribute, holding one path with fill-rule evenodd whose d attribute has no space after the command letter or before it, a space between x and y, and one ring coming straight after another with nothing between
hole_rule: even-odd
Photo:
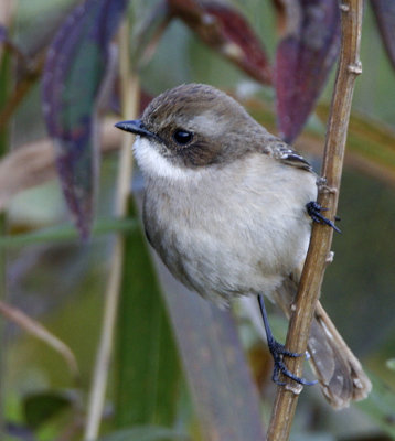
<instances>
[{"instance_id":1,"label":"bright white throat patch under the bird's beak","mask_svg":"<svg viewBox=\"0 0 395 441\"><path fill-rule=\"evenodd\" d=\"M170 180L186 180L200 178L196 170L182 169L172 164L152 146L148 138L137 136L134 143L134 153L141 171L147 176L167 178Z\"/></svg>"}]
</instances>

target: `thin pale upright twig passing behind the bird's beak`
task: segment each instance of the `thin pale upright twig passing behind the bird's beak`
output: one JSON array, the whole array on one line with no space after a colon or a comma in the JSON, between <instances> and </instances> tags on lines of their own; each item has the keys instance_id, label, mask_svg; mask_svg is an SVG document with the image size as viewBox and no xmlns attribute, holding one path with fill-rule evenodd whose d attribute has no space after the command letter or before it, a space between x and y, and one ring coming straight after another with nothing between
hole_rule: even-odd
<instances>
[{"instance_id":1,"label":"thin pale upright twig passing behind the bird's beak","mask_svg":"<svg viewBox=\"0 0 395 441\"><path fill-rule=\"evenodd\" d=\"M137 114L139 103L139 85L137 77L130 74L130 51L129 51L129 25L124 23L120 29L120 77L121 96L124 97L124 115L128 118ZM131 149L130 137L124 137L119 155L119 172L116 193L116 214L125 216L127 201L130 193L131 182ZM94 377L90 386L90 396L87 410L85 428L85 440L90 441L97 438L103 416L113 342L116 326L117 310L119 303L119 289L121 281L121 268L124 256L124 238L116 237L113 250L111 267L109 272L104 318L102 325L100 342L98 345Z\"/></svg>"}]
</instances>

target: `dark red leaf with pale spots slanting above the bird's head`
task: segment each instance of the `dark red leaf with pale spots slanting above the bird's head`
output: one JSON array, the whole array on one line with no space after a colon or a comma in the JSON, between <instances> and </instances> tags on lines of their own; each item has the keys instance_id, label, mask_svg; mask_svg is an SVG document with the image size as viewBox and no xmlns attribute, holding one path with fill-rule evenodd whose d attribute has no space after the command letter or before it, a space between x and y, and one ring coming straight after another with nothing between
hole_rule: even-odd
<instances>
[{"instance_id":1,"label":"dark red leaf with pale spots slanting above the bird's head","mask_svg":"<svg viewBox=\"0 0 395 441\"><path fill-rule=\"evenodd\" d=\"M195 0L167 0L170 13L184 21L209 46L236 64L250 77L271 84L265 49L248 22L227 4Z\"/></svg>"}]
</instances>

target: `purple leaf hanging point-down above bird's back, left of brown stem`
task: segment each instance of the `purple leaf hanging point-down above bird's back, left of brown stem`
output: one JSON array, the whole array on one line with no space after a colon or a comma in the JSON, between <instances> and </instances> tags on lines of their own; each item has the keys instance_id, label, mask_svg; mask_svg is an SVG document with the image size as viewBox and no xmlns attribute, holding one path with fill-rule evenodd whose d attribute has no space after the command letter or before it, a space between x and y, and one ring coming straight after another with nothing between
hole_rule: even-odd
<instances>
[{"instance_id":1,"label":"purple leaf hanging point-down above bird's back, left of brown stem","mask_svg":"<svg viewBox=\"0 0 395 441\"><path fill-rule=\"evenodd\" d=\"M338 0L299 0L298 9L276 54L278 127L287 142L301 131L340 49Z\"/></svg>"}]
</instances>

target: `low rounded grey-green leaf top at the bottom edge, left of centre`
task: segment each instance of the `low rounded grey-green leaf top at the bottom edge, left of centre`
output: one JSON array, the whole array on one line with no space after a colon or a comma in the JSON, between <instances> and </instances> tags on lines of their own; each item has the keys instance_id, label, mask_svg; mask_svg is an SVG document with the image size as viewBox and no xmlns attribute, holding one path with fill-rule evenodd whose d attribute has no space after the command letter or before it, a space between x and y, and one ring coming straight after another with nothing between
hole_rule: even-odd
<instances>
[{"instance_id":1,"label":"low rounded grey-green leaf top at the bottom edge, left of centre","mask_svg":"<svg viewBox=\"0 0 395 441\"><path fill-rule=\"evenodd\" d=\"M102 437L97 441L186 441L188 438L179 431L167 429L159 426L141 426L132 429L116 431L107 437Z\"/></svg>"}]
</instances>

